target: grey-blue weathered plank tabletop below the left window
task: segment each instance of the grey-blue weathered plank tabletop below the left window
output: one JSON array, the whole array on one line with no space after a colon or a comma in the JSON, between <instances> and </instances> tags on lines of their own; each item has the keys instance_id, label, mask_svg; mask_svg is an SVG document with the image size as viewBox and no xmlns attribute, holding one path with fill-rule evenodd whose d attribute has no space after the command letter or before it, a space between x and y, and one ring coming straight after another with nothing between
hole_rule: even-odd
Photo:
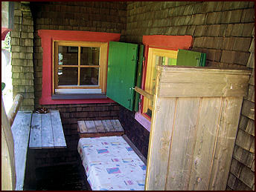
<instances>
[{"instance_id":1,"label":"grey-blue weathered plank tabletop below the left window","mask_svg":"<svg viewBox=\"0 0 256 192\"><path fill-rule=\"evenodd\" d=\"M33 113L29 148L66 148L63 125L58 110Z\"/></svg>"}]
</instances>

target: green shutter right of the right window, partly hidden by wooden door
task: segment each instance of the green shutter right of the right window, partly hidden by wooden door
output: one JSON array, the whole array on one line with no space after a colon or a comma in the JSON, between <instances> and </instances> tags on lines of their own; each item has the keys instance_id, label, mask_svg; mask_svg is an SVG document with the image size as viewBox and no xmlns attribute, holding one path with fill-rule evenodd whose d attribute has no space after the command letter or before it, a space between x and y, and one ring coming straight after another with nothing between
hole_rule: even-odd
<instances>
[{"instance_id":1,"label":"green shutter right of the right window, partly hidden by wooden door","mask_svg":"<svg viewBox=\"0 0 256 192\"><path fill-rule=\"evenodd\" d=\"M200 64L202 53L191 50L179 50L177 56L177 65L180 66L204 66Z\"/></svg>"}]
</instances>

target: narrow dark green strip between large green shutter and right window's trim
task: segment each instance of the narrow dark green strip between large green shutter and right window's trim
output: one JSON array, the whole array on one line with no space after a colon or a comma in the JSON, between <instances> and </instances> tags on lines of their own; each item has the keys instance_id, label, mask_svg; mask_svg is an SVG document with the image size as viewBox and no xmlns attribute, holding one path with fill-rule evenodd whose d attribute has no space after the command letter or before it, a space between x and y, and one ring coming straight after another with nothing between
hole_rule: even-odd
<instances>
[{"instance_id":1,"label":"narrow dark green strip between large green shutter and right window's trim","mask_svg":"<svg viewBox=\"0 0 256 192\"><path fill-rule=\"evenodd\" d=\"M137 76L136 76L136 86L141 88L141 76L142 76L142 65L143 65L143 52L144 52L144 45L139 45L138 50L138 67L137 67ZM140 94L135 92L135 103L134 103L134 110L137 112L139 108L139 99Z\"/></svg>"}]
</instances>

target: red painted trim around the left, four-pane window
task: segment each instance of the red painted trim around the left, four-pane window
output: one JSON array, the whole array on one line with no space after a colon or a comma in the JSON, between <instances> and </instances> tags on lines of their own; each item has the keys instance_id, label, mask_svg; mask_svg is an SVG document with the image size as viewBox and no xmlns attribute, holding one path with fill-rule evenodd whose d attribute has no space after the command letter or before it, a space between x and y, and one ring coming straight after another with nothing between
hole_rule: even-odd
<instances>
[{"instance_id":1,"label":"red painted trim around the left, four-pane window","mask_svg":"<svg viewBox=\"0 0 256 192\"><path fill-rule=\"evenodd\" d=\"M52 43L54 40L77 42L119 42L120 33L99 33L75 30L38 30L42 44L42 97L40 105L109 103L111 99L51 99L52 90Z\"/></svg>"}]
</instances>

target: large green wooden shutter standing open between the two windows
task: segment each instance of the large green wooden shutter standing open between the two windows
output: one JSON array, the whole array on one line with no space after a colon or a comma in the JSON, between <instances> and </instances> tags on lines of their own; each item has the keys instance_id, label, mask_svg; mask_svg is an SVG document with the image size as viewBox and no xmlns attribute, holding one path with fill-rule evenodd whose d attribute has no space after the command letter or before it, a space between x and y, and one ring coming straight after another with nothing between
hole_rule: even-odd
<instances>
[{"instance_id":1,"label":"large green wooden shutter standing open between the two windows","mask_svg":"<svg viewBox=\"0 0 256 192\"><path fill-rule=\"evenodd\" d=\"M109 42L106 96L133 110L138 44Z\"/></svg>"}]
</instances>

